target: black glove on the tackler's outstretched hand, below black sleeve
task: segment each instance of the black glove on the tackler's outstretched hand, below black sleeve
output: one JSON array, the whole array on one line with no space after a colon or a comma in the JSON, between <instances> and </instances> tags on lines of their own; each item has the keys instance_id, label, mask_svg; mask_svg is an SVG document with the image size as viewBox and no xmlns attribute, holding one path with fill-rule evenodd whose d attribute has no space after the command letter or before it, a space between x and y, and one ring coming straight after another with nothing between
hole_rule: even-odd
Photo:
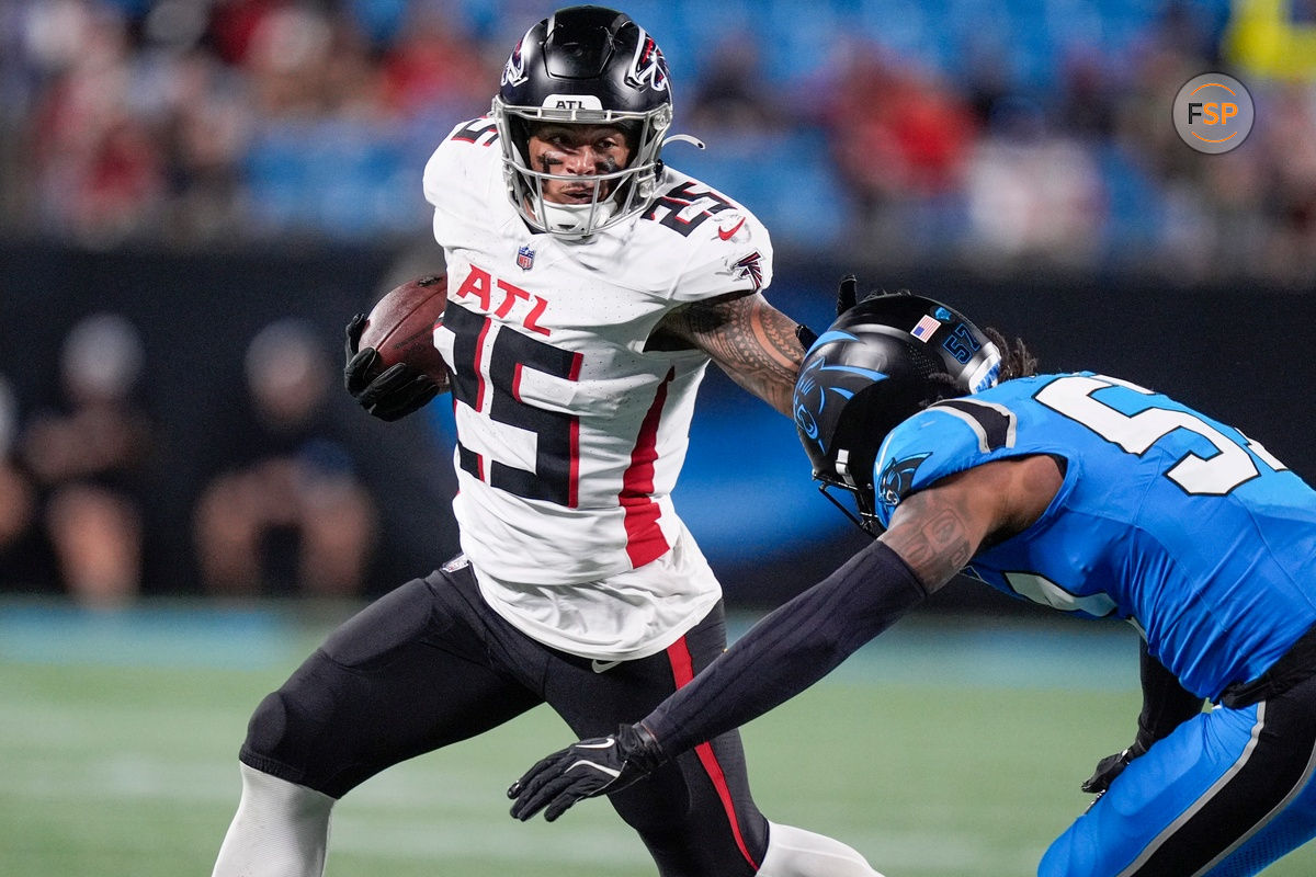
<instances>
[{"instance_id":1,"label":"black glove on the tackler's outstretched hand, below black sleeve","mask_svg":"<svg viewBox=\"0 0 1316 877\"><path fill-rule=\"evenodd\" d=\"M582 798L625 789L667 760L642 724L622 724L616 734L580 740L558 749L525 772L507 790L512 817L525 822L544 810L553 822Z\"/></svg>"}]
</instances>

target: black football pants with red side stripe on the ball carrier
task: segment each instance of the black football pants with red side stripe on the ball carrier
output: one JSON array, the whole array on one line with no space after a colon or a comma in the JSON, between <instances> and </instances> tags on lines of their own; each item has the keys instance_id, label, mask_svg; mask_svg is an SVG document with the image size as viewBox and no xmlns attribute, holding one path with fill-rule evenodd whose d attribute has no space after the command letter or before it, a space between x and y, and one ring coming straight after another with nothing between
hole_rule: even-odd
<instances>
[{"instance_id":1,"label":"black football pants with red side stripe on the ball carrier","mask_svg":"<svg viewBox=\"0 0 1316 877\"><path fill-rule=\"evenodd\" d=\"M257 707L240 757L341 798L384 768L542 702L580 738L611 734L644 718L725 646L719 604L665 652L599 673L588 659L503 621L480 598L470 567L437 571L330 634ZM508 781L524 767L509 764ZM611 801L663 877L753 874L767 848L767 820L750 797L737 734L684 753Z\"/></svg>"}]
</instances>

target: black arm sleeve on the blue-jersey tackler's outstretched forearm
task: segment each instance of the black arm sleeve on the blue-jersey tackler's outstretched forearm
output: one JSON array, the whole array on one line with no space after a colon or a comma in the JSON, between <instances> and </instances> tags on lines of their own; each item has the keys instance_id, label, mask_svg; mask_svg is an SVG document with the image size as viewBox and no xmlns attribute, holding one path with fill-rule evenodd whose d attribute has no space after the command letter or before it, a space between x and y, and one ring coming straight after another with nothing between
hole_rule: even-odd
<instances>
[{"instance_id":1,"label":"black arm sleeve on the blue-jersey tackler's outstretched forearm","mask_svg":"<svg viewBox=\"0 0 1316 877\"><path fill-rule=\"evenodd\" d=\"M900 555L874 542L754 625L641 724L676 756L799 694L926 596Z\"/></svg>"}]
</instances>

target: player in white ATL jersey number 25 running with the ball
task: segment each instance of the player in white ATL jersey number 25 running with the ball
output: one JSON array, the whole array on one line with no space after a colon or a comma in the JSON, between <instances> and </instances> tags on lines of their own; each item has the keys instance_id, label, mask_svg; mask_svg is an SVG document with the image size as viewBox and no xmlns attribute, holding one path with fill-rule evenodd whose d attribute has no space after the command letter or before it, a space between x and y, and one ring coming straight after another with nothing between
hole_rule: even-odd
<instances>
[{"instance_id":1,"label":"player in white ATL jersey number 25 running with the ball","mask_svg":"<svg viewBox=\"0 0 1316 877\"><path fill-rule=\"evenodd\" d=\"M695 392L712 360L788 414L807 344L761 295L765 227L661 160L671 113L653 38L579 7L530 28L490 116L434 151L463 554L346 622L259 705L216 874L320 874L330 809L379 770L541 702L607 732L725 647L717 580L670 498ZM428 402L428 377L357 350L361 325L349 391L384 419ZM665 876L875 874L770 826L734 734L613 805Z\"/></svg>"}]
</instances>

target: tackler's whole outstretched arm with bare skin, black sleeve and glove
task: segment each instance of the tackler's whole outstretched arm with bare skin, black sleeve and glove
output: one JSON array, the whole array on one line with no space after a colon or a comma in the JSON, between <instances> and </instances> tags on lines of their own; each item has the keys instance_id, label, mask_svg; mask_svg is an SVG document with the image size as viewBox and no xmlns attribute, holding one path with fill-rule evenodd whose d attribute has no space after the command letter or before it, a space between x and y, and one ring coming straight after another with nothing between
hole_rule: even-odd
<instances>
[{"instance_id":1,"label":"tackler's whole outstretched arm with bare skin, black sleeve and glove","mask_svg":"<svg viewBox=\"0 0 1316 877\"><path fill-rule=\"evenodd\" d=\"M770 613L647 717L530 768L508 790L512 815L524 820L545 810L555 819L580 798L625 788L799 694L945 585L984 542L1032 525L1061 483L1054 460L1029 456L986 463L911 494L880 539Z\"/></svg>"}]
</instances>

